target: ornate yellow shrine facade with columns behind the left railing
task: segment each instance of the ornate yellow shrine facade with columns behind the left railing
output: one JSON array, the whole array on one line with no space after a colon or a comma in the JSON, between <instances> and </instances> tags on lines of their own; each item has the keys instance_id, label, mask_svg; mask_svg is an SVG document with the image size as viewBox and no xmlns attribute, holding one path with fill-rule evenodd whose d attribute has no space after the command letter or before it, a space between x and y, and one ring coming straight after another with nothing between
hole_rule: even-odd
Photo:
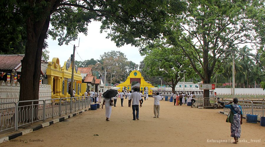
<instances>
[{"instance_id":1,"label":"ornate yellow shrine facade with columns behind the left railing","mask_svg":"<svg viewBox=\"0 0 265 147\"><path fill-rule=\"evenodd\" d=\"M46 72L48 78L48 84L51 85L52 98L66 98L70 97L71 76L72 76L72 64L70 60L64 62L64 66L61 68L58 58L53 58L52 62L48 62L48 68ZM82 76L77 71L77 66L74 69L74 91L75 96L81 94Z\"/></svg>"}]
</instances>

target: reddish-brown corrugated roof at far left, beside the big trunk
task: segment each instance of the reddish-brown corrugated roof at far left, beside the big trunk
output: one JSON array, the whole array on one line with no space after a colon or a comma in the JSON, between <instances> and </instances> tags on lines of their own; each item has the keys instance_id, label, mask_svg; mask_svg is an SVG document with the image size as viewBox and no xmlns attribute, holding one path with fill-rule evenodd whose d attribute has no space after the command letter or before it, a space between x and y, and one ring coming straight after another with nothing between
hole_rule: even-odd
<instances>
[{"instance_id":1,"label":"reddish-brown corrugated roof at far left, beside the big trunk","mask_svg":"<svg viewBox=\"0 0 265 147\"><path fill-rule=\"evenodd\" d=\"M21 60L24 58L24 55L0 55L0 69L1 70L12 70L15 69Z\"/></svg>"}]
</instances>

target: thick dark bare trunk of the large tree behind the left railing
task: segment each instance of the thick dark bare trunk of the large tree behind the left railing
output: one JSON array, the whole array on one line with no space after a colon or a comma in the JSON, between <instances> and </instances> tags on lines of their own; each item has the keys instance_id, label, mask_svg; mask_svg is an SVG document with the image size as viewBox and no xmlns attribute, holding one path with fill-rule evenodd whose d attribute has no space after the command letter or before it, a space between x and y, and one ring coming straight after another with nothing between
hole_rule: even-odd
<instances>
[{"instance_id":1,"label":"thick dark bare trunk of the large tree behind the left railing","mask_svg":"<svg viewBox=\"0 0 265 147\"><path fill-rule=\"evenodd\" d=\"M27 44L25 56L21 60L22 68L19 101L39 99L42 48L48 31L50 16L39 21L35 21L34 19L36 19L34 15L26 19ZM31 102L19 103L20 106L30 104Z\"/></svg>"}]
</instances>

